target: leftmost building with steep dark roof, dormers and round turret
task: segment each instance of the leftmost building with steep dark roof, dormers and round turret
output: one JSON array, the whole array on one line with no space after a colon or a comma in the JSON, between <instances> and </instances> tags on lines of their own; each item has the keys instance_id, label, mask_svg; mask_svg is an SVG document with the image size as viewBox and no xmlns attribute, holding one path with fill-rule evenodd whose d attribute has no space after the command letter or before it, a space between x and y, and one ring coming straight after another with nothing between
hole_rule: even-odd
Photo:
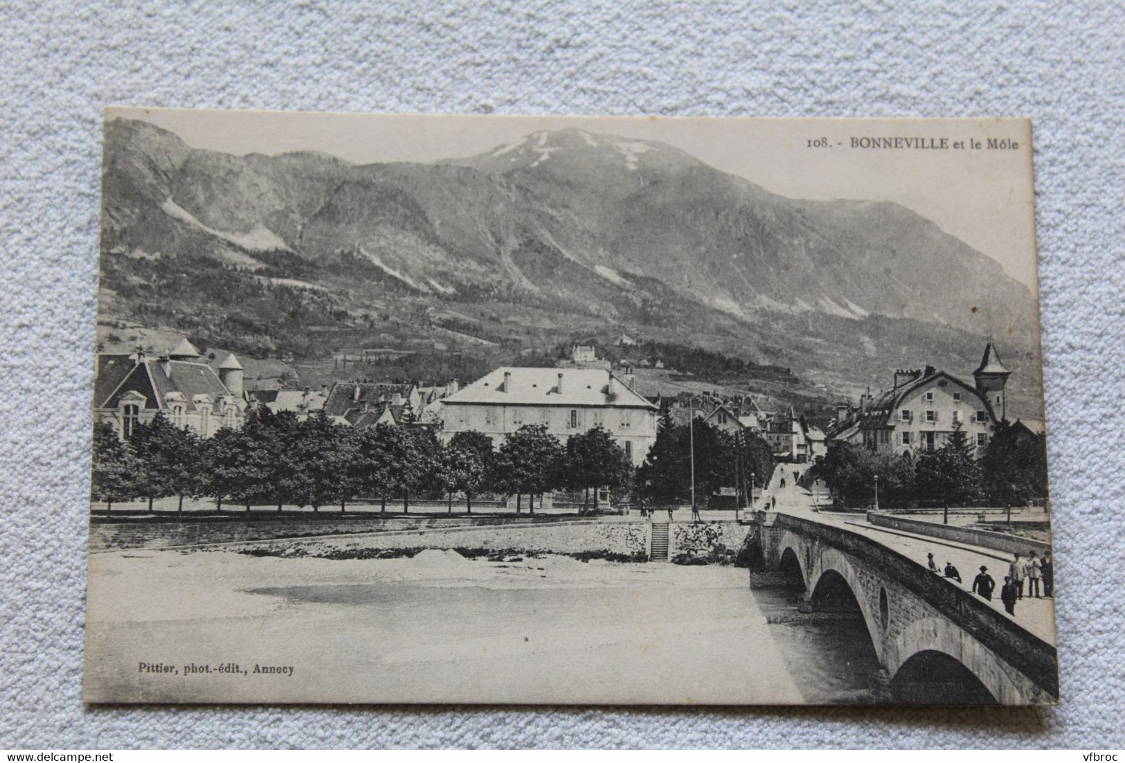
<instances>
[{"instance_id":1,"label":"leftmost building with steep dark roof, dormers and round turret","mask_svg":"<svg viewBox=\"0 0 1125 763\"><path fill-rule=\"evenodd\" d=\"M110 424L123 439L159 413L202 438L243 424L243 369L234 353L216 370L184 339L158 357L137 348L132 354L99 354L97 362L93 420Z\"/></svg>"}]
</instances>

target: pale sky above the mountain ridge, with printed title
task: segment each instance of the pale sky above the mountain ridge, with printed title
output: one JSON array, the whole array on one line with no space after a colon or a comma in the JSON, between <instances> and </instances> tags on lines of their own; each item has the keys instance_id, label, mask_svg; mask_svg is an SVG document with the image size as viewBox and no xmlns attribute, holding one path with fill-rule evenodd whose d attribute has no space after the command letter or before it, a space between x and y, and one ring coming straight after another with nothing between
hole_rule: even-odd
<instances>
[{"instance_id":1,"label":"pale sky above the mountain ridge, with printed title","mask_svg":"<svg viewBox=\"0 0 1125 763\"><path fill-rule=\"evenodd\" d=\"M902 204L998 261L1032 294L1035 257L1030 123L1026 119L759 119L321 114L110 107L188 145L225 153L321 151L356 163L471 156L541 129L577 127L662 141L790 198ZM861 147L868 137L946 147ZM827 145L810 145L827 138ZM988 140L1015 149L989 149ZM980 143L975 147L972 141ZM963 147L954 147L957 142Z\"/></svg>"}]
</instances>

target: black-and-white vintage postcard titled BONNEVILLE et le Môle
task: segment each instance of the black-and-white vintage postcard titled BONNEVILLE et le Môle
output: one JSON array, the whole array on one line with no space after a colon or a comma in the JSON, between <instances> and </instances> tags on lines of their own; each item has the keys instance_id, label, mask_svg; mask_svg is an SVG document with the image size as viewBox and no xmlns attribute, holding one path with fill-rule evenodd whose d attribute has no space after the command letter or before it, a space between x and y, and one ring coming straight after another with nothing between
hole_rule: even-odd
<instances>
[{"instance_id":1,"label":"black-and-white vintage postcard titled BONNEVILLE et le M\u00f4le","mask_svg":"<svg viewBox=\"0 0 1125 763\"><path fill-rule=\"evenodd\" d=\"M87 702L1058 702L1028 120L122 107L102 179Z\"/></svg>"}]
</instances>

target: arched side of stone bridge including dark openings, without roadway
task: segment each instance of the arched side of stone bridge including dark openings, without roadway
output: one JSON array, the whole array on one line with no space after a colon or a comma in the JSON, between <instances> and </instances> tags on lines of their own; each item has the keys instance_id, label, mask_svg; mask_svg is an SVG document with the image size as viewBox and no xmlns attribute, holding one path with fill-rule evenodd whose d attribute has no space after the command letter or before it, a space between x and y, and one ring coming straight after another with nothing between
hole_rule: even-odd
<instances>
[{"instance_id":1,"label":"arched side of stone bridge including dark openings, without roadway","mask_svg":"<svg viewBox=\"0 0 1125 763\"><path fill-rule=\"evenodd\" d=\"M755 563L799 575L802 609L858 608L882 667L880 699L1058 702L1055 647L978 596L843 527L760 511L754 524Z\"/></svg>"}]
</instances>

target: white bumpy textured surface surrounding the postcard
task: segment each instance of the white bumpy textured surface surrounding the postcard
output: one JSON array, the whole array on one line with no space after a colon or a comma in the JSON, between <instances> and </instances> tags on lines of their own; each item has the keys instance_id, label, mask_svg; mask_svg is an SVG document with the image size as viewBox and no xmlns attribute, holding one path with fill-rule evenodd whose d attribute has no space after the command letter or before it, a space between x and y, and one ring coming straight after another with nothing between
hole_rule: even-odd
<instances>
[{"instance_id":1,"label":"white bumpy textured surface surrounding the postcard","mask_svg":"<svg viewBox=\"0 0 1125 763\"><path fill-rule=\"evenodd\" d=\"M1101 2L4 3L0 746L1122 745L1123 17ZM1062 706L84 708L106 104L1032 116Z\"/></svg>"}]
</instances>

